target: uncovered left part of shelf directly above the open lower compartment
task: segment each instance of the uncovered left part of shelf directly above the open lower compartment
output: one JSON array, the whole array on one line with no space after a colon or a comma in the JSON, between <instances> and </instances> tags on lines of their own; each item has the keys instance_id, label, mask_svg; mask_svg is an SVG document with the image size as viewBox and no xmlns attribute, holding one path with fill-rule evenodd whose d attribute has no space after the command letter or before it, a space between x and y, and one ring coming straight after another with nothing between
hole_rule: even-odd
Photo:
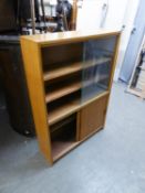
<instances>
[{"instance_id":1,"label":"uncovered left part of shelf directly above the open lower compartment","mask_svg":"<svg viewBox=\"0 0 145 193\"><path fill-rule=\"evenodd\" d=\"M73 101L58 106L56 108L49 111L49 125L53 125L56 121L61 120L65 116L73 114L80 107L80 99L74 99Z\"/></svg>"}]
</instances>

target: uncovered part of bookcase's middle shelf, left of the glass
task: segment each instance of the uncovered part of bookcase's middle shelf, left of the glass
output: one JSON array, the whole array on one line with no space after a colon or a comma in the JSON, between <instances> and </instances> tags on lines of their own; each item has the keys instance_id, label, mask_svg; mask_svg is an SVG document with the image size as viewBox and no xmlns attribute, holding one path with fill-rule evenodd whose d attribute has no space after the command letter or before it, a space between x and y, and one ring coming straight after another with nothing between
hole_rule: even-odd
<instances>
[{"instance_id":1,"label":"uncovered part of bookcase's middle shelf, left of the glass","mask_svg":"<svg viewBox=\"0 0 145 193\"><path fill-rule=\"evenodd\" d=\"M63 97L65 95L72 94L81 88L81 83L71 83L65 84L65 86L60 87L45 96L45 101L51 103L60 97Z\"/></svg>"}]
</instances>

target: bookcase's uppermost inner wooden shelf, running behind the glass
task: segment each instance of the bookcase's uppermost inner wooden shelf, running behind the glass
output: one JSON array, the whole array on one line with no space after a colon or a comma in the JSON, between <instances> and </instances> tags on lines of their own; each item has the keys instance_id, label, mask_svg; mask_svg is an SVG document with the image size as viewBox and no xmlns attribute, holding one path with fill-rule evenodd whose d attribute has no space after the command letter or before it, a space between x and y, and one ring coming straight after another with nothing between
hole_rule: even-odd
<instances>
[{"instance_id":1,"label":"bookcase's uppermost inner wooden shelf, running behind the glass","mask_svg":"<svg viewBox=\"0 0 145 193\"><path fill-rule=\"evenodd\" d=\"M103 64L106 62L111 62L111 57L101 57L96 61L93 61L93 63L92 63L92 61L69 63L68 65L62 65L62 67L50 69L49 72L45 72L43 75L43 79L51 81L51 79L58 78L60 76L73 74L73 73L76 73L83 68L89 68L89 67L92 67L94 65L100 65L100 64Z\"/></svg>"}]
</instances>

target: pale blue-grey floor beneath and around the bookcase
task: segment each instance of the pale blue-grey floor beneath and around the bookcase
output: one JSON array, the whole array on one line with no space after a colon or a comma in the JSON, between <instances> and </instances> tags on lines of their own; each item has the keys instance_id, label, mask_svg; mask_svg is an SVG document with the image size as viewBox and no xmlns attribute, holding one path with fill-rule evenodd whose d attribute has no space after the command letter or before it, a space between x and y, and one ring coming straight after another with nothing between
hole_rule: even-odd
<instances>
[{"instance_id":1,"label":"pale blue-grey floor beneath and around the bookcase","mask_svg":"<svg viewBox=\"0 0 145 193\"><path fill-rule=\"evenodd\" d=\"M145 103L113 86L106 127L49 167L0 105L0 193L145 193Z\"/></svg>"}]
</instances>

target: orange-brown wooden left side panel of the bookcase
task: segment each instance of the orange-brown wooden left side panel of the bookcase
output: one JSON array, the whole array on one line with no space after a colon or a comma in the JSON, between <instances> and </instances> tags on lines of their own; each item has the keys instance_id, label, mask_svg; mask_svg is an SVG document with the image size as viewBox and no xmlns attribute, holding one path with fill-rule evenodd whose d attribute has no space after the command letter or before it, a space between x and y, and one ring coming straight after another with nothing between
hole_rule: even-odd
<instances>
[{"instance_id":1,"label":"orange-brown wooden left side panel of the bookcase","mask_svg":"<svg viewBox=\"0 0 145 193\"><path fill-rule=\"evenodd\" d=\"M49 162L52 163L40 47L38 44L21 37L21 49L40 148Z\"/></svg>"}]
</instances>

